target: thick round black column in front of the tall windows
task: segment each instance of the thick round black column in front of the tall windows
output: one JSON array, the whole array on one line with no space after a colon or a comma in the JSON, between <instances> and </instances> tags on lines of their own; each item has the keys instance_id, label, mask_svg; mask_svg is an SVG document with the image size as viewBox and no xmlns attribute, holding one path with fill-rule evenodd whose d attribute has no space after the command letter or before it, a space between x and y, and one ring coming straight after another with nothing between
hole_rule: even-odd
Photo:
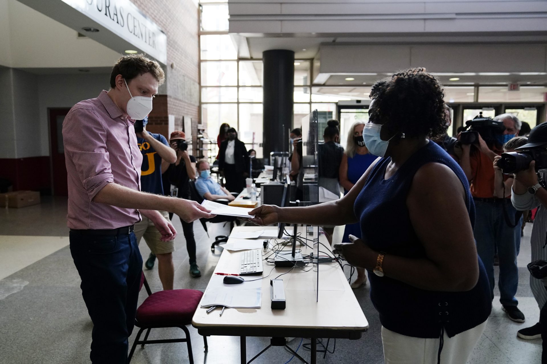
<instances>
[{"instance_id":1,"label":"thick round black column in front of the tall windows","mask_svg":"<svg viewBox=\"0 0 547 364\"><path fill-rule=\"evenodd\" d=\"M264 158L270 152L289 150L287 129L293 126L294 52L282 49L264 51Z\"/></svg>"}]
</instances>

